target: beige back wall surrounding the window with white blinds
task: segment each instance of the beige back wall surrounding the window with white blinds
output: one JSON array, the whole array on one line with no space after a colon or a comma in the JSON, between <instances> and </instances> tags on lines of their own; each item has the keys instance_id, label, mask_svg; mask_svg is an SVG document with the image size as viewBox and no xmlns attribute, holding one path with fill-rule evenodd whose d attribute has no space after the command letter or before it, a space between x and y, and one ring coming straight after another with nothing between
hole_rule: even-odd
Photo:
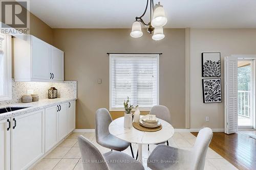
<instances>
[{"instance_id":1,"label":"beige back wall surrounding the window with white blinds","mask_svg":"<svg viewBox=\"0 0 256 170\"><path fill-rule=\"evenodd\" d=\"M53 44L65 52L65 80L77 80L77 129L94 129L98 108L109 108L108 52L163 53L160 57L160 104L170 109L175 128L185 127L185 29L164 29L159 42L130 29L54 29ZM97 80L102 79L102 84ZM114 118L121 116L113 112Z\"/></svg>"}]
</instances>

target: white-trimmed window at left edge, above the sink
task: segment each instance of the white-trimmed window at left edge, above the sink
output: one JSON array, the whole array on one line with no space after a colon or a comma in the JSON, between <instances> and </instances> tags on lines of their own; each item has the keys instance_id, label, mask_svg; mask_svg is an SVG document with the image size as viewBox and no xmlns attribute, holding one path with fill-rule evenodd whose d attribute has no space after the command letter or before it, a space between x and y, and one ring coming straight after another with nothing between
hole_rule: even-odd
<instances>
[{"instance_id":1,"label":"white-trimmed window at left edge, above the sink","mask_svg":"<svg viewBox=\"0 0 256 170\"><path fill-rule=\"evenodd\" d=\"M0 101L12 99L11 36L0 33Z\"/></svg>"}]
</instances>

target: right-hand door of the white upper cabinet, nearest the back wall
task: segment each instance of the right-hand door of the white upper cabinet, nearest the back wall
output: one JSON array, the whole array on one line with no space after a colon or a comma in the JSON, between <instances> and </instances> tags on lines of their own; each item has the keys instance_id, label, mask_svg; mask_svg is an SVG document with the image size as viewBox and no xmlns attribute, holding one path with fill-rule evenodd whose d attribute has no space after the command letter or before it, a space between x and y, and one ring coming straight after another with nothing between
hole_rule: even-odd
<instances>
[{"instance_id":1,"label":"right-hand door of the white upper cabinet, nearest the back wall","mask_svg":"<svg viewBox=\"0 0 256 170\"><path fill-rule=\"evenodd\" d=\"M51 72L52 80L64 80L64 52L51 46Z\"/></svg>"}]
</instances>

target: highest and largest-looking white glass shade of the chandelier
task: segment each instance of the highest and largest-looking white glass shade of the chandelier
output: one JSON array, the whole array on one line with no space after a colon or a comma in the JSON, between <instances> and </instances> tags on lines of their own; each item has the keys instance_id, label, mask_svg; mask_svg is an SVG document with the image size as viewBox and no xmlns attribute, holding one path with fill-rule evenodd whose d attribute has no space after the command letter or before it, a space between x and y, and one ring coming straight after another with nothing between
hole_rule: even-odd
<instances>
[{"instance_id":1,"label":"highest and largest-looking white glass shade of the chandelier","mask_svg":"<svg viewBox=\"0 0 256 170\"><path fill-rule=\"evenodd\" d=\"M162 6L156 5L151 24L155 28L163 27L167 23L167 17Z\"/></svg>"}]
</instances>

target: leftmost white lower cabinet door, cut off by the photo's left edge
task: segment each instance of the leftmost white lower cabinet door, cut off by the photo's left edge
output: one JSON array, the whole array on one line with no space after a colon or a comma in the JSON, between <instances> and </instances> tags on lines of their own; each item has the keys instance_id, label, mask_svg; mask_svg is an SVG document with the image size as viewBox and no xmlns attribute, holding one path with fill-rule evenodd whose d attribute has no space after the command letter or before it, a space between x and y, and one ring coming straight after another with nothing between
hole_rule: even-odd
<instances>
[{"instance_id":1,"label":"leftmost white lower cabinet door, cut off by the photo's left edge","mask_svg":"<svg viewBox=\"0 0 256 170\"><path fill-rule=\"evenodd\" d=\"M0 169L9 170L11 167L10 163L10 132L11 124L10 118L0 120Z\"/></svg>"}]
</instances>

